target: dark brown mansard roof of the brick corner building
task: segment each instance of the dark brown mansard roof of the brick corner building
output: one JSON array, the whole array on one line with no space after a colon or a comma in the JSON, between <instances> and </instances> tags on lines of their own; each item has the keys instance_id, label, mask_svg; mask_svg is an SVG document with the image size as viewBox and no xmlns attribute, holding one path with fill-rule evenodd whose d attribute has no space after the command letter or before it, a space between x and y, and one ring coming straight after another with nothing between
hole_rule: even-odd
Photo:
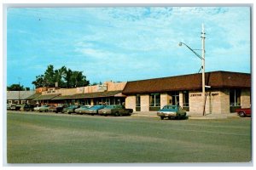
<instances>
[{"instance_id":1,"label":"dark brown mansard roof of the brick corner building","mask_svg":"<svg viewBox=\"0 0 256 170\"><path fill-rule=\"evenodd\" d=\"M251 88L251 74L231 71L206 72L212 88ZM181 90L201 90L201 73L127 82L123 94L148 94Z\"/></svg>"}]
</instances>

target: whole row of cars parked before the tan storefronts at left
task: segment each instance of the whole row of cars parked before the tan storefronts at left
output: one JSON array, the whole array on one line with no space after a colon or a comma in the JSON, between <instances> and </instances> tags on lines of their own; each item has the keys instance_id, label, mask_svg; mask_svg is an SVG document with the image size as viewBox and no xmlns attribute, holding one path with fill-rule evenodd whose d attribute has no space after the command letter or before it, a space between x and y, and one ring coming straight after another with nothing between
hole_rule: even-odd
<instances>
[{"instance_id":1,"label":"whole row of cars parked before the tan storefronts at left","mask_svg":"<svg viewBox=\"0 0 256 170\"><path fill-rule=\"evenodd\" d=\"M22 105L19 109L17 107L11 109L8 106L8 110L13 111L39 111L39 112L48 112L53 111L55 113L77 113L77 114L88 114L88 115L113 115L113 116L131 116L133 112L132 109L125 109L124 105Z\"/></svg>"}]
</instances>

